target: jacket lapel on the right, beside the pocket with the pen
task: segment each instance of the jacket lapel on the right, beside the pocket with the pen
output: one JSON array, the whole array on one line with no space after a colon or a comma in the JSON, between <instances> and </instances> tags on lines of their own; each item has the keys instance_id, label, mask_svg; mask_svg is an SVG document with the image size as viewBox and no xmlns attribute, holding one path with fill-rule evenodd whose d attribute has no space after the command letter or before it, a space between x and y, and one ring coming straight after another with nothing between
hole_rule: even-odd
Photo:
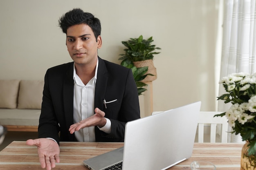
<instances>
[{"instance_id":1,"label":"jacket lapel on the right, beside the pocket with the pen","mask_svg":"<svg viewBox=\"0 0 256 170\"><path fill-rule=\"evenodd\" d=\"M94 108L99 108L103 110L103 99L105 96L107 82L108 82L108 70L106 68L105 62L99 58L98 74L95 87L95 98L94 98Z\"/></svg>"}]
</instances>

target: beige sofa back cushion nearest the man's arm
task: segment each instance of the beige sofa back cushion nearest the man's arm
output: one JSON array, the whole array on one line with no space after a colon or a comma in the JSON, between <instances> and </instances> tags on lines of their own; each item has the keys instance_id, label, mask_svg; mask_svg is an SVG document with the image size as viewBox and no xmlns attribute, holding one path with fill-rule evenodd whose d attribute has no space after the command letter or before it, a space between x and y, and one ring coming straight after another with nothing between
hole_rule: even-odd
<instances>
[{"instance_id":1,"label":"beige sofa back cushion nearest the man's arm","mask_svg":"<svg viewBox=\"0 0 256 170\"><path fill-rule=\"evenodd\" d=\"M43 80L20 80L18 108L41 109Z\"/></svg>"}]
</instances>

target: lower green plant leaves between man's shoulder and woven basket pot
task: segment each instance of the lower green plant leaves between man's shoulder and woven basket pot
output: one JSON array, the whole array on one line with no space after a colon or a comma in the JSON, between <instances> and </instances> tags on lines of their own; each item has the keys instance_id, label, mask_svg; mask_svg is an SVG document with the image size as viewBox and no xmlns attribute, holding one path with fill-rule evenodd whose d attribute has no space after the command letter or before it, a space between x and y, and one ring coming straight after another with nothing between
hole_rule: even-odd
<instances>
[{"instance_id":1,"label":"lower green plant leaves between man's shoulder and woven basket pot","mask_svg":"<svg viewBox=\"0 0 256 170\"><path fill-rule=\"evenodd\" d=\"M141 82L141 80L145 79L145 77L147 75L150 75L150 74L146 74L146 72L148 71L147 66L137 68L128 59L123 60L121 62L121 66L125 66L125 67L130 68L132 70L132 75L133 75L133 78L135 80L135 83L136 83L136 86L137 86L137 89L138 89L138 95L141 95L142 92L147 90L146 88L143 88L144 86L147 86L147 84L145 84L144 82Z\"/></svg>"}]
</instances>

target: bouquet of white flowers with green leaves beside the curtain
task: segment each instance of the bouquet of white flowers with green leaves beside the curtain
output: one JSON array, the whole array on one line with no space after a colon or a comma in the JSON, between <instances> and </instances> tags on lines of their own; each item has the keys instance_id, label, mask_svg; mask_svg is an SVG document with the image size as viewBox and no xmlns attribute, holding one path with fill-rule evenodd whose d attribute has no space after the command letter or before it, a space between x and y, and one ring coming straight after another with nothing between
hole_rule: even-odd
<instances>
[{"instance_id":1,"label":"bouquet of white flowers with green leaves beside the curtain","mask_svg":"<svg viewBox=\"0 0 256 170\"><path fill-rule=\"evenodd\" d=\"M249 155L256 153L256 73L233 73L223 77L220 82L226 94L218 97L232 106L225 113L215 116L226 116L232 133L242 136L249 142Z\"/></svg>"}]
</instances>

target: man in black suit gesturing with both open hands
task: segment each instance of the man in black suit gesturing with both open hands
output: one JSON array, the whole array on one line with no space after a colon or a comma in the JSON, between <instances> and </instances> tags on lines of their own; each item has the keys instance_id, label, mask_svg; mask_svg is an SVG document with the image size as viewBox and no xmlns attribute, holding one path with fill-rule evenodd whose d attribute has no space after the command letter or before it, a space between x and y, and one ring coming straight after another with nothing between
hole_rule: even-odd
<instances>
[{"instance_id":1,"label":"man in black suit gesturing with both open hands","mask_svg":"<svg viewBox=\"0 0 256 170\"><path fill-rule=\"evenodd\" d=\"M130 69L102 60L101 24L91 13L73 9L59 20L74 62L45 74L38 139L42 168L59 162L59 141L124 141L125 124L139 119L137 87Z\"/></svg>"}]
</instances>

